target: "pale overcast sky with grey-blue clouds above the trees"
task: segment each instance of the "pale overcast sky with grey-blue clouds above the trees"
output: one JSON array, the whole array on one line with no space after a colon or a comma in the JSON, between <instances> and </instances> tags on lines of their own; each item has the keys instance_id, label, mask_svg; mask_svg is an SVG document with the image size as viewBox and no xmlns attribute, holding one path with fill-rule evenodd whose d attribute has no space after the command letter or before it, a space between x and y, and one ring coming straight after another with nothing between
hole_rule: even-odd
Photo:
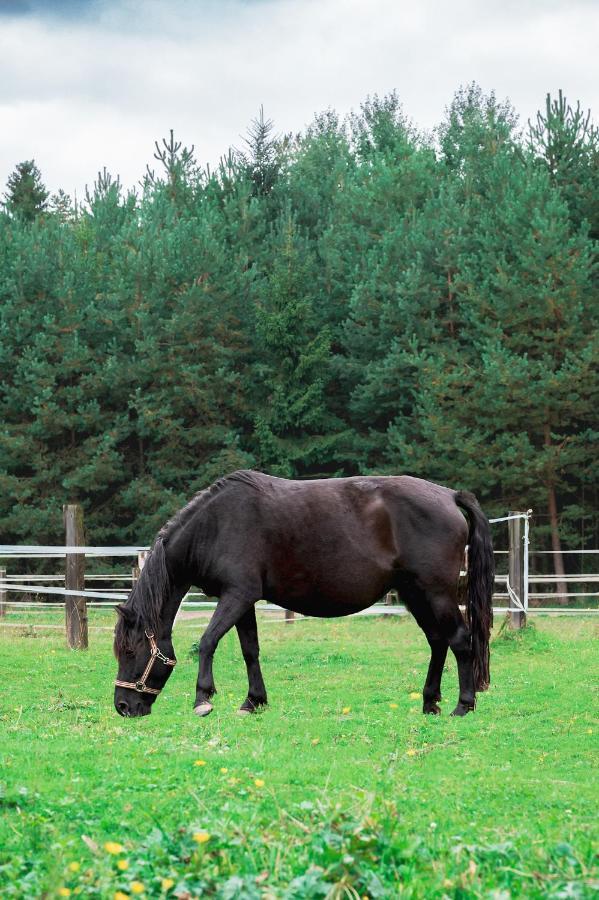
<instances>
[{"instance_id":1,"label":"pale overcast sky with grey-blue clouds above the trees","mask_svg":"<svg viewBox=\"0 0 599 900\"><path fill-rule=\"evenodd\" d=\"M31 158L134 186L170 128L214 163L260 104L297 132L395 89L431 129L474 80L522 124L559 88L598 121L598 37L597 0L0 0L0 195Z\"/></svg>"}]
</instances>

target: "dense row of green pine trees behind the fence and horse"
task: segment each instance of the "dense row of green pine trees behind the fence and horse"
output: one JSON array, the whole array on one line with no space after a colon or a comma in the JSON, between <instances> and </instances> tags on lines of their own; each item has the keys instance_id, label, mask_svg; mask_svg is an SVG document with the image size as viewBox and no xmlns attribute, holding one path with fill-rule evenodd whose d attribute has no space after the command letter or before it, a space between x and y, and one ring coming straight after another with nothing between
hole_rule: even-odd
<instances>
[{"instance_id":1,"label":"dense row of green pine trees behind the fence and horse","mask_svg":"<svg viewBox=\"0 0 599 900\"><path fill-rule=\"evenodd\" d=\"M147 541L239 467L411 473L599 546L599 135L561 96L522 131L459 91L434 137L395 95L215 171L173 135L0 213L2 541ZM545 538L543 537L545 536Z\"/></svg>"}]
</instances>

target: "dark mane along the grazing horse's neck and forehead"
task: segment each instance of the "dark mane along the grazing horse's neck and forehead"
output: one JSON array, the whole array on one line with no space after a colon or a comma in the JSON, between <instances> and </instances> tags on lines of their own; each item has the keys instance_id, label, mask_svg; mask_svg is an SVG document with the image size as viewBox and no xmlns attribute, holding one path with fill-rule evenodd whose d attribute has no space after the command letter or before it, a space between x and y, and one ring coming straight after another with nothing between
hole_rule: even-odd
<instances>
[{"instance_id":1,"label":"dark mane along the grazing horse's neck and forehead","mask_svg":"<svg viewBox=\"0 0 599 900\"><path fill-rule=\"evenodd\" d=\"M249 469L225 475L210 487L199 491L158 532L133 590L125 603L117 606L119 619L114 632L114 652L117 656L121 652L133 652L146 629L153 634L159 631L164 597L171 585L164 552L165 542L179 528L184 528L207 500L231 482L248 484L258 490L262 487L258 473Z\"/></svg>"}]
</instances>

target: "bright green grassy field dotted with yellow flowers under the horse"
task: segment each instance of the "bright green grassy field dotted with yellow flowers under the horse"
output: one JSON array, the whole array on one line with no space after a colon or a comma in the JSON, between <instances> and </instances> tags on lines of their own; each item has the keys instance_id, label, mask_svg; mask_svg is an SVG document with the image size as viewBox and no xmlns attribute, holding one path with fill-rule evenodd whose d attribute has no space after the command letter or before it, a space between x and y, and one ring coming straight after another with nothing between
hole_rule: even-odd
<instances>
[{"instance_id":1,"label":"bright green grassy field dotted with yellow flowers under the horse","mask_svg":"<svg viewBox=\"0 0 599 900\"><path fill-rule=\"evenodd\" d=\"M420 713L409 618L263 622L269 709L236 715L229 635L199 720L185 622L153 715L123 720L109 631L72 653L0 626L0 896L595 896L594 627L497 634L492 688L456 720L453 659L444 714Z\"/></svg>"}]
</instances>

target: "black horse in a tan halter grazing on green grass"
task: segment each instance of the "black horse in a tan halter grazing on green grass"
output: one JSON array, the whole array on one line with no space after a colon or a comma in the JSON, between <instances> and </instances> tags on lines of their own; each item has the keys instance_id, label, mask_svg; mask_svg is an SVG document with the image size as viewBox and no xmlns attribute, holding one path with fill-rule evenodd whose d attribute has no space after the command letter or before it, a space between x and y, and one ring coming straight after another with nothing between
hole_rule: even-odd
<instances>
[{"instance_id":1,"label":"black horse in a tan halter grazing on green grass","mask_svg":"<svg viewBox=\"0 0 599 900\"><path fill-rule=\"evenodd\" d=\"M467 518L460 512L461 508ZM466 617L458 578L468 544ZM438 713L448 647L458 665L454 715L474 709L489 685L494 582L489 523L476 498L409 476L288 481L234 472L197 494L158 533L120 613L114 705L142 716L175 664L175 614L192 584L218 597L200 641L195 712L216 688L212 659L235 625L249 691L240 712L266 703L255 603L310 616L346 616L396 589L431 648L423 711Z\"/></svg>"}]
</instances>

